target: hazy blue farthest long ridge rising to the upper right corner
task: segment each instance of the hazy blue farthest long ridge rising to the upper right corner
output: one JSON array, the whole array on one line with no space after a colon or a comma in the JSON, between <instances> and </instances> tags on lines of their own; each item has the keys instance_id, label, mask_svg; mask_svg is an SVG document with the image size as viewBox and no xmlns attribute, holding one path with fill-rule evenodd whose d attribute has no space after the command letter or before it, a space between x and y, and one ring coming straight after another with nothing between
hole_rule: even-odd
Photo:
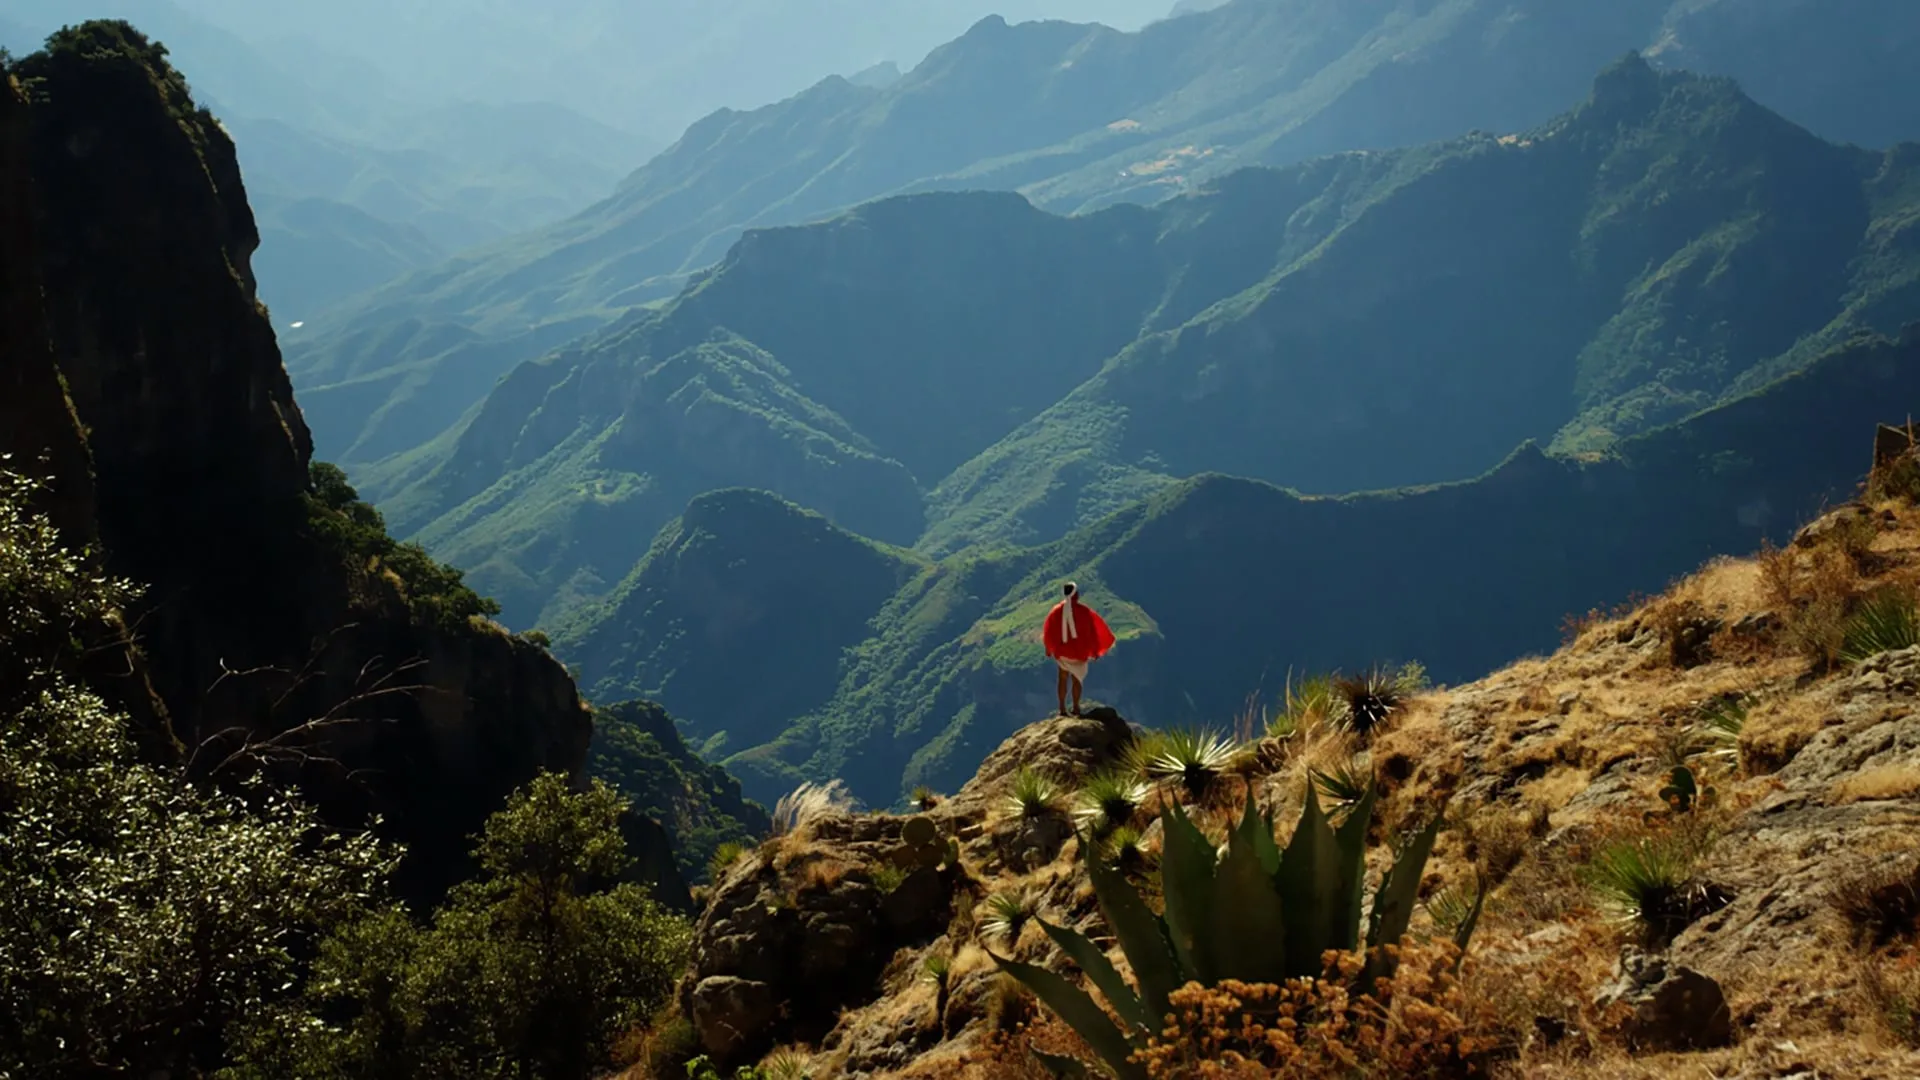
<instances>
[{"instance_id":1,"label":"hazy blue farthest long ridge rising to the upper right corner","mask_svg":"<svg viewBox=\"0 0 1920 1080\"><path fill-rule=\"evenodd\" d=\"M1912 94L1897 90L1910 86L1907 65L1884 48L1910 40L1920 15L1901 0L1857 8L1818 27L1830 42L1818 58L1847 71L1837 83L1847 90L1818 67L1768 79L1778 96L1763 100L1809 121L1834 115L1847 92L1866 96L1859 115L1880 117L1870 142L1884 146L1920 131L1905 104ZM424 319L499 338L553 319L605 319L670 296L743 229L897 192L1020 190L1073 211L1152 202L1238 165L1521 131L1634 48L1659 44L1713 73L1764 77L1764 63L1807 37L1809 19L1820 23L1809 6L1755 0L1236 0L1133 35L985 19L885 88L833 77L762 110L718 111L578 217L313 319L290 365L321 446L359 465L382 455L380 440L336 394L351 400L355 382L386 371L426 377L445 365L474 367L459 382L486 386L536 356L503 363L413 352L403 340L369 348L380 325ZM1692 35L1713 48L1684 52ZM1814 102L1805 115L1803 102ZM411 444L428 438L428 425L415 427Z\"/></svg>"}]
</instances>

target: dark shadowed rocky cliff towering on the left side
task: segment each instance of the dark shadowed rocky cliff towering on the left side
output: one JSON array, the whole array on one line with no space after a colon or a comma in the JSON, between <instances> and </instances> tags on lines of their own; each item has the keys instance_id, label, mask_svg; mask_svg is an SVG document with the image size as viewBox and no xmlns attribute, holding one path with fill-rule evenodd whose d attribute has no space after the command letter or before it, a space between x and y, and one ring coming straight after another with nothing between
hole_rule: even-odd
<instances>
[{"instance_id":1,"label":"dark shadowed rocky cliff towering on the left side","mask_svg":"<svg viewBox=\"0 0 1920 1080\"><path fill-rule=\"evenodd\" d=\"M192 769L276 738L265 757L323 807L390 819L405 892L438 892L507 792L580 771L572 680L486 621L419 615L392 567L324 527L232 142L165 52L86 23L15 75L0 450L48 455L63 525L146 586L129 621Z\"/></svg>"}]
</instances>

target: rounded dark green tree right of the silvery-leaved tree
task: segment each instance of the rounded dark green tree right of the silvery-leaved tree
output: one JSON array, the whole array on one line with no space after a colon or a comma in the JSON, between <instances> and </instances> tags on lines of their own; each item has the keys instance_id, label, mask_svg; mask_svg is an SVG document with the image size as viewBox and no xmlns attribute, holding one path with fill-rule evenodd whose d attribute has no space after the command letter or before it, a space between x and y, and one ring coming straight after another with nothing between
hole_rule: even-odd
<instances>
[{"instance_id":1,"label":"rounded dark green tree right of the silvery-leaved tree","mask_svg":"<svg viewBox=\"0 0 1920 1080\"><path fill-rule=\"evenodd\" d=\"M672 992L691 932L622 882L626 801L541 774L488 819L482 876L417 928L378 913L328 940L300 1011L242 1034L248 1078L591 1076ZM326 1022L323 1017L348 1017Z\"/></svg>"}]
</instances>

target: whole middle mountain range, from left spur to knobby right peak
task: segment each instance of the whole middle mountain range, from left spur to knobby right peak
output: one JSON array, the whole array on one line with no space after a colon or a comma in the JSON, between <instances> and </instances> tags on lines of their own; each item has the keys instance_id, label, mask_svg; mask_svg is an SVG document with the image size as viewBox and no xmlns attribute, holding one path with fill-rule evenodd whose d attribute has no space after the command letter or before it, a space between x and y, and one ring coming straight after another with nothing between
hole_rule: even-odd
<instances>
[{"instance_id":1,"label":"whole middle mountain range, from left spur to knobby right peak","mask_svg":"<svg viewBox=\"0 0 1920 1080\"><path fill-rule=\"evenodd\" d=\"M670 477L931 555L1050 542L1196 473L1473 477L1523 440L1599 450L1920 319L1916 154L1820 142L1726 81L1624 60L1534 133L1244 169L1150 209L881 200L749 233L672 304L361 475L513 625L616 580L703 490ZM714 336L756 390L659 365ZM636 442L636 409L705 430L684 379L751 404L728 430L789 434ZM877 482L866 455L904 471Z\"/></svg>"}]
</instances>

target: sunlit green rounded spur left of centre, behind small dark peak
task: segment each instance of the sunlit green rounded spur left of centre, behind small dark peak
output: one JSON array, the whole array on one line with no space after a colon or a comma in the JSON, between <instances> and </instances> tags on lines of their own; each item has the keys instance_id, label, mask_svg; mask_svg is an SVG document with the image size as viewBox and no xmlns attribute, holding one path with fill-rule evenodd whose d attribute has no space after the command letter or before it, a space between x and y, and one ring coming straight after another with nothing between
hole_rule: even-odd
<instances>
[{"instance_id":1,"label":"sunlit green rounded spur left of centre, behind small dark peak","mask_svg":"<svg viewBox=\"0 0 1920 1080\"><path fill-rule=\"evenodd\" d=\"M912 475L787 379L720 331L685 348L662 346L647 323L609 332L516 369L442 465L388 505L470 567L513 625L553 625L605 596L714 488L780 490L910 544L924 525Z\"/></svg>"}]
</instances>

